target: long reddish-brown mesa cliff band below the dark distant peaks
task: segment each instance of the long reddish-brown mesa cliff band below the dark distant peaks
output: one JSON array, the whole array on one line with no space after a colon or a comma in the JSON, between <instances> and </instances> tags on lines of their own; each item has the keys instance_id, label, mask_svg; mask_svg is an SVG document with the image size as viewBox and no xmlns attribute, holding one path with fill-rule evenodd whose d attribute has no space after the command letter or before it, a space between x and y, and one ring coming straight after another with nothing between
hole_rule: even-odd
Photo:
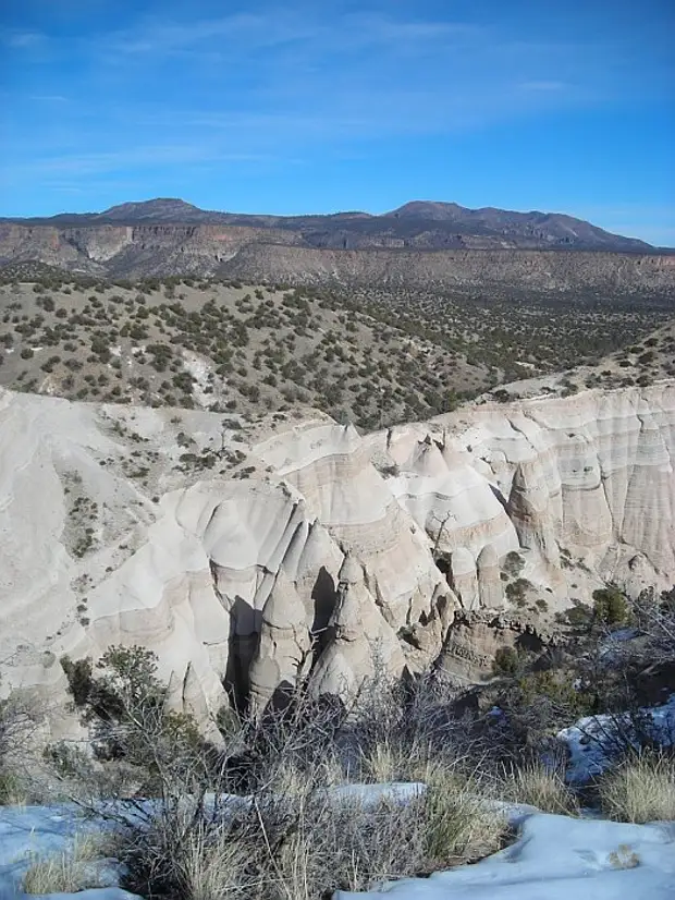
<instances>
[{"instance_id":1,"label":"long reddish-brown mesa cliff band below the dark distant peaks","mask_svg":"<svg viewBox=\"0 0 675 900\"><path fill-rule=\"evenodd\" d=\"M0 264L37 260L101 277L220 276L244 281L380 287L465 287L568 291L668 292L675 255L547 251L483 246L455 248L381 235L352 248L317 246L302 229L254 224L144 222L58 227L0 221Z\"/></svg>"}]
</instances>

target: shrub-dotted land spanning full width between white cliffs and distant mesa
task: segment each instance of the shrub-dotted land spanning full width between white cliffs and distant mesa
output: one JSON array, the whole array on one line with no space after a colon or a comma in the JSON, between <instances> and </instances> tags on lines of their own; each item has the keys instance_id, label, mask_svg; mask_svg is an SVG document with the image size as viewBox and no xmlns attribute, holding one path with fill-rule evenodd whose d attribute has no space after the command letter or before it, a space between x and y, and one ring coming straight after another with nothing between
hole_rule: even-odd
<instances>
[{"instance_id":1,"label":"shrub-dotted land spanning full width between white cliffs and distant mesa","mask_svg":"<svg viewBox=\"0 0 675 900\"><path fill-rule=\"evenodd\" d=\"M305 404L372 429L489 389L508 399L502 382L596 364L626 346L639 369L630 382L650 381L675 348L664 337L633 352L670 320L662 297L107 283L39 266L0 273L0 382L78 400L249 416ZM598 384L618 384L614 368Z\"/></svg>"}]
</instances>

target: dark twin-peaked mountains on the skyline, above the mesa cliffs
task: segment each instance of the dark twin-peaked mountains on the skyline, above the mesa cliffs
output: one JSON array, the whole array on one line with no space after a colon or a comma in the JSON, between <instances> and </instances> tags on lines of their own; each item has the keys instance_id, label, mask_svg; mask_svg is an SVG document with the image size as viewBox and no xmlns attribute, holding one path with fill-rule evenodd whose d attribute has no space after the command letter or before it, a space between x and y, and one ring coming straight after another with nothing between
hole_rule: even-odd
<instances>
[{"instance_id":1,"label":"dark twin-peaked mountains on the skyline, above the mesa cliffs","mask_svg":"<svg viewBox=\"0 0 675 900\"><path fill-rule=\"evenodd\" d=\"M174 197L123 203L102 212L3 218L30 226L89 227L221 224L294 232L305 246L331 250L585 250L650 253L636 238L613 234L562 212L469 209L456 203L413 200L382 215L363 211L272 216L206 210ZM296 243L296 241L294 241Z\"/></svg>"}]
</instances>

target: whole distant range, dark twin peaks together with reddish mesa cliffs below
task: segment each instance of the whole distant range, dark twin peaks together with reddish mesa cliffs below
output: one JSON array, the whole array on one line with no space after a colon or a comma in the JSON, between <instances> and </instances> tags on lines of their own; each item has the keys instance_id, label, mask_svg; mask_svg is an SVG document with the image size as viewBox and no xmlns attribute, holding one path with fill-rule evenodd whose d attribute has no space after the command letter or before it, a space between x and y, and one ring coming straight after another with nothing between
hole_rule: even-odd
<instances>
[{"instance_id":1,"label":"whole distant range, dark twin peaks together with reddish mesa cliffs below","mask_svg":"<svg viewBox=\"0 0 675 900\"><path fill-rule=\"evenodd\" d=\"M102 212L0 218L0 266L103 279L196 276L245 283L478 291L490 296L675 288L675 253L557 212L414 200L383 215L271 216L171 197Z\"/></svg>"}]
</instances>

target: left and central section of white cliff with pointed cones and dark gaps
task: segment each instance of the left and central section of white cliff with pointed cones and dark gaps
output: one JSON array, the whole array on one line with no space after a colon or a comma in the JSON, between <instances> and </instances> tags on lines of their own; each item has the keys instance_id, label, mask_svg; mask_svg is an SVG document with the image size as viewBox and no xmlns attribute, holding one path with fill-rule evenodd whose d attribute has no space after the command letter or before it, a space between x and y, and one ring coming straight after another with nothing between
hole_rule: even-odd
<instances>
[{"instance_id":1,"label":"left and central section of white cliff with pointed cones and dark gaps","mask_svg":"<svg viewBox=\"0 0 675 900\"><path fill-rule=\"evenodd\" d=\"M353 428L305 422L248 448L265 477L199 479L175 474L176 429L212 450L221 417L173 418L2 392L3 685L56 702L63 654L142 644L174 705L204 719L229 701L262 706L306 676L348 693L375 646L400 672L406 647L410 665L421 657L397 630L419 619L433 638L425 658L438 653L442 632L427 623L441 597L454 606L451 588ZM160 457L145 489L125 470L126 439ZM354 630L366 627L364 643Z\"/></svg>"}]
</instances>

